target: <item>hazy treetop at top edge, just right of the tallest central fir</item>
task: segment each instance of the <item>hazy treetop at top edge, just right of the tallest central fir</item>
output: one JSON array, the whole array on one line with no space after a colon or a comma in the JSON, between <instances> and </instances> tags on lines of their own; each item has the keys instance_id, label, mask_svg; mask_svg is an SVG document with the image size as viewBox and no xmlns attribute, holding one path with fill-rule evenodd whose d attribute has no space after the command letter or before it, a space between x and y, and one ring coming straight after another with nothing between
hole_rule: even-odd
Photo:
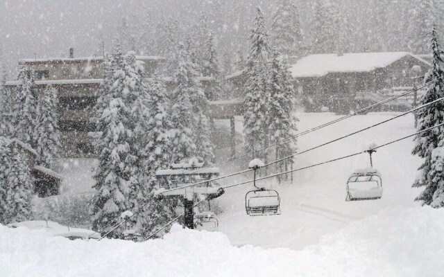
<instances>
[{"instance_id":1,"label":"hazy treetop at top edge, just right of the tallest central fir","mask_svg":"<svg viewBox=\"0 0 444 277\"><path fill-rule=\"evenodd\" d=\"M271 39L278 51L284 55L304 53L300 12L293 0L283 0L273 14Z\"/></svg>"}]
</instances>

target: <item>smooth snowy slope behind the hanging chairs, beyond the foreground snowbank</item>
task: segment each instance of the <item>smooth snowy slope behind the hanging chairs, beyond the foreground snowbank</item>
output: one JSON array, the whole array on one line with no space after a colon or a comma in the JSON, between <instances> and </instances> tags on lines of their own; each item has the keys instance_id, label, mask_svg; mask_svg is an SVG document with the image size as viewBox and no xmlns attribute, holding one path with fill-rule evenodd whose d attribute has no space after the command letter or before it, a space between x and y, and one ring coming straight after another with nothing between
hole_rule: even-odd
<instances>
[{"instance_id":1,"label":"smooth snowy slope behind the hanging chairs, beyond the foreground snowbank","mask_svg":"<svg viewBox=\"0 0 444 277\"><path fill-rule=\"evenodd\" d=\"M353 116L301 136L298 139L298 150L312 148L395 115L398 114L370 113ZM331 113L298 114L299 130L302 132L339 117ZM237 125L240 127L238 131L241 131L241 122L237 122ZM416 129L413 127L413 116L403 116L301 154L296 157L295 168L353 154L366 149L370 143L382 145L414 132ZM310 244L316 244L323 235L343 229L350 222L375 215L385 208L420 206L420 203L413 202L420 189L411 188L416 169L420 166L420 159L411 155L412 149L413 138L409 138L381 148L373 154L373 166L382 174L384 189L382 199L379 200L345 202L345 182L353 170L370 166L368 154L295 172L293 184L279 185L275 179L259 181L259 184L278 190L282 215L250 217L245 212L244 197L253 185L228 188L225 195L218 199L224 210L219 216L219 230L228 235L234 245L253 244L264 248L303 249ZM251 157L246 157L235 165L224 165L221 172L227 174L246 169L250 159ZM268 169L268 174L272 172L276 172L275 168ZM221 180L221 184L235 184L252 177L252 174L232 177Z\"/></svg>"}]
</instances>

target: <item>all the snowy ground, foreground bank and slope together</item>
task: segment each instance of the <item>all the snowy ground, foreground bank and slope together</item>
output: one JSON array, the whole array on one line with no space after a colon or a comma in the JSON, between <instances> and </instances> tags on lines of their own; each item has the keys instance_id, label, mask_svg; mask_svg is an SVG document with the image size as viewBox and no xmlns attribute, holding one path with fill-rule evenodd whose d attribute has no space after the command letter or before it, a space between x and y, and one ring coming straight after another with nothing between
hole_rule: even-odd
<instances>
[{"instance_id":1,"label":"all the snowy ground, foreground bank and slope together","mask_svg":"<svg viewBox=\"0 0 444 277\"><path fill-rule=\"evenodd\" d=\"M299 139L300 151L393 117L355 116ZM326 123L333 114L298 114L301 131ZM241 118L237 131L241 132ZM405 116L325 148L298 156L296 167L334 159L415 132ZM303 170L293 184L268 186L282 198L282 215L249 217L244 210L250 185L230 188L218 201L221 233L173 228L164 240L135 244L69 241L42 231L0 226L0 276L442 276L444 210L413 202L411 188L420 159L412 139L374 154L382 173L382 199L345 202L345 180L368 167L368 157ZM219 158L228 150L219 150ZM221 167L227 174L248 166L250 157ZM63 193L91 191L92 160L63 161ZM275 169L268 171L274 172ZM234 184L251 176L226 179ZM270 182L268 182L270 183ZM106 255L103 255L106 253ZM192 255L191 255L192 253ZM185 258L187 257L187 258ZM3 275L2 275L3 274Z\"/></svg>"}]
</instances>

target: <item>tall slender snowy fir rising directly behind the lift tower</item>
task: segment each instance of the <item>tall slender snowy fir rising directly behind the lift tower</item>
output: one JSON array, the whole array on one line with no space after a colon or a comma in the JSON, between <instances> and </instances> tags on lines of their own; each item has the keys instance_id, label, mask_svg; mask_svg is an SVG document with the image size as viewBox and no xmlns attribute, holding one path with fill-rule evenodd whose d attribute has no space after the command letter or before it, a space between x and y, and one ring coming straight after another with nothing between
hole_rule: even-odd
<instances>
[{"instance_id":1,"label":"tall slender snowy fir rising directly behind the lift tower","mask_svg":"<svg viewBox=\"0 0 444 277\"><path fill-rule=\"evenodd\" d=\"M197 74L193 67L184 46L179 44L178 68L173 76L176 88L171 93L173 103L171 107L171 123L173 124L171 161L173 162L194 157L196 154L194 107L198 105L195 102L196 94L203 92L198 88Z\"/></svg>"}]
</instances>

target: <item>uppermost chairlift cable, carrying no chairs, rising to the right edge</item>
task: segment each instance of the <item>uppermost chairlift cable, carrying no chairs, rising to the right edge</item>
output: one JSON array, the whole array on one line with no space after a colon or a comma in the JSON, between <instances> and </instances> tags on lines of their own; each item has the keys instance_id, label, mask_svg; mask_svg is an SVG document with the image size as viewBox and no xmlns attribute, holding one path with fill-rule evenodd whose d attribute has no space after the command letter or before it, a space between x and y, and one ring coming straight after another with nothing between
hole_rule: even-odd
<instances>
[{"instance_id":1,"label":"uppermost chairlift cable, carrying no chairs, rising to the right edge","mask_svg":"<svg viewBox=\"0 0 444 277\"><path fill-rule=\"evenodd\" d=\"M318 125L318 126L313 127L313 128L311 128L311 129L307 129L307 130L305 130L304 132L300 132L300 133L295 134L295 135L293 135L293 136L289 136L289 137L286 138L286 139L282 139L281 141L278 141L277 143L273 143L273 144L271 144L271 145L268 145L268 146L266 146L266 147L264 147L264 148L255 149L255 150L253 150L253 151L245 152L244 154L239 154L239 155L237 155L237 156L230 157L230 158L226 159L225 161L221 161L221 162L219 162L219 163L215 163L215 164L212 165L212 166L220 166L220 165L222 165L222 164L224 164L224 163L228 163L229 161L234 161L234 160L237 160L237 159L240 159L240 158L246 157L246 156L248 156L249 154L251 154L251 153L253 153L253 152L261 151L261 150L266 150L267 148L271 148L271 147L273 147L273 146L280 145L280 143L283 143L283 142L285 142L285 141L289 141L289 140L291 140L291 139L296 139L296 138L298 138L298 137L300 137L300 136L304 136L305 134L309 134L309 133L314 132L314 131L316 131L316 130L318 130L318 129L322 129L323 127L327 127L327 126L330 126L330 125L332 125L332 124L334 124L334 123L338 123L339 121L342 121L342 120L345 120L345 119L347 119L347 118L350 118L350 117L352 117L352 116L356 116L357 114L362 114L364 111L368 111L368 110L373 109L373 108L375 108L375 107L379 107L380 105L383 105L383 104L385 104L386 102L390 102L390 101L395 100L395 99L397 99L397 98L400 98L400 97L402 97L402 96L406 96L406 95L409 94L409 93L412 93L412 92L414 92L414 91L418 91L419 89L422 89L422 88L424 88L424 87L427 87L427 86L429 86L429 84L432 84L432 83L434 83L434 82L438 82L438 80L441 80L442 78L444 78L444 77L441 77L441 78L438 78L438 79L436 79L436 80L432 80L432 81L426 82L426 83L424 83L424 84L421 84L420 86L415 87L415 88L413 88L413 89L411 89L411 90L409 90L409 91L405 91L405 92L401 93L401 94L398 95L398 96L392 96L391 98L386 98L386 99L384 99L384 100L381 100L381 101L379 101L379 102L377 102L377 103L375 103L375 104L373 104L373 105L370 105L370 106L365 107L365 108L363 108L363 109L359 109L358 111L355 111L355 112L353 112L352 114L348 114L348 115L346 115L346 116L342 116L341 118L336 118L335 120L332 120L332 121L330 121L330 122L324 123L324 124L322 124L322 125ZM204 167L204 168L197 168L196 170L193 170L193 171L191 171L191 172L198 172L198 171L203 170L203 169L205 169L205 168L209 168L209 166Z\"/></svg>"}]
</instances>

